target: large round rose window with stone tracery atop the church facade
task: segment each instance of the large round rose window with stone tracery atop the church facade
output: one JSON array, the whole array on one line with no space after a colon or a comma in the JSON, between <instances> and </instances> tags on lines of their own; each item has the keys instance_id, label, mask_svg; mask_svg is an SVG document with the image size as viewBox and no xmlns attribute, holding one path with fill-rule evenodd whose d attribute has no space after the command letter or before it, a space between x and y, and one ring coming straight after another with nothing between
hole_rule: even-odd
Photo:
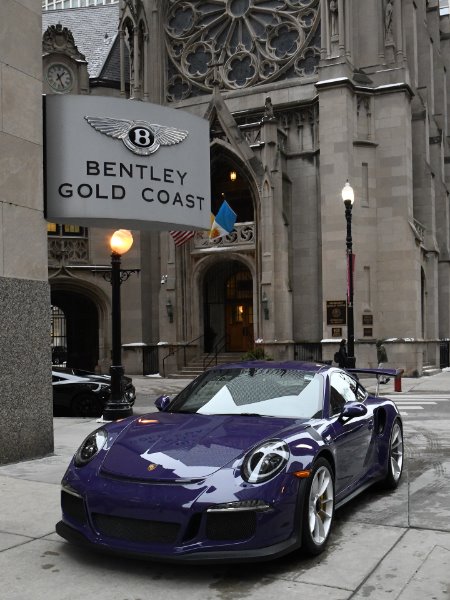
<instances>
[{"instance_id":1,"label":"large round rose window with stone tracery atop the church facade","mask_svg":"<svg viewBox=\"0 0 450 600\"><path fill-rule=\"evenodd\" d=\"M168 97L312 76L319 0L168 0Z\"/></svg>"}]
</instances>

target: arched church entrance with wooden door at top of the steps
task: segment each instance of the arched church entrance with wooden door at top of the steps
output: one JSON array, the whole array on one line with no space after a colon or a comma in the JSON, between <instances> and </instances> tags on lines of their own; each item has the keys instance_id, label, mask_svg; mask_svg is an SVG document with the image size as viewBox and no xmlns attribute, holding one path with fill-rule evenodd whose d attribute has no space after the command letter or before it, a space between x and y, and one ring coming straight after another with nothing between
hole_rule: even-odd
<instances>
[{"instance_id":1,"label":"arched church entrance with wooden door at top of the steps","mask_svg":"<svg viewBox=\"0 0 450 600\"><path fill-rule=\"evenodd\" d=\"M246 352L253 347L253 279L239 261L209 269L204 280L205 351Z\"/></svg>"}]
</instances>

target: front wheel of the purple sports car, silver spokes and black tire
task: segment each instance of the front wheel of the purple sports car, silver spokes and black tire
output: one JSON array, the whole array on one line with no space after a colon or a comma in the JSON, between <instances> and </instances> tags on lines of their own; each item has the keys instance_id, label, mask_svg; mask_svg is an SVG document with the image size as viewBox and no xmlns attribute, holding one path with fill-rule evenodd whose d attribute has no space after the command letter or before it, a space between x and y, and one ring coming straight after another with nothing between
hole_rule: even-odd
<instances>
[{"instance_id":1,"label":"front wheel of the purple sports car, silver spokes and black tire","mask_svg":"<svg viewBox=\"0 0 450 600\"><path fill-rule=\"evenodd\" d=\"M302 551L316 556L325 549L334 518L334 473L319 458L306 480L302 515Z\"/></svg>"}]
</instances>

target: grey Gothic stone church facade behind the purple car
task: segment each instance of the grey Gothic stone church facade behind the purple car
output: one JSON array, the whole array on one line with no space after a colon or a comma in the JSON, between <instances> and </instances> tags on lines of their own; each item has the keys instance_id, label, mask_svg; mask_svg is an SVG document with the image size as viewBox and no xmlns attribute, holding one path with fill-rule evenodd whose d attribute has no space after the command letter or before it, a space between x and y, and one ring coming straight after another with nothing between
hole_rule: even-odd
<instances>
[{"instance_id":1,"label":"grey Gothic stone church facade behind the purple car","mask_svg":"<svg viewBox=\"0 0 450 600\"><path fill-rule=\"evenodd\" d=\"M166 232L136 232L127 370L156 364L167 374L196 355L255 348L330 360L347 337L347 179L356 363L375 366L383 338L390 363L408 374L439 366L450 337L445 7L121 0L115 10L119 75L102 84L90 74L87 91L208 119L212 211L226 198L237 213L235 231L216 242L200 233L175 247ZM56 12L64 26L70 10ZM75 288L89 297L98 363L108 359L109 297L91 267L107 260L104 237L89 232L84 270L66 261L61 271L58 259L50 272L67 303Z\"/></svg>"}]
</instances>

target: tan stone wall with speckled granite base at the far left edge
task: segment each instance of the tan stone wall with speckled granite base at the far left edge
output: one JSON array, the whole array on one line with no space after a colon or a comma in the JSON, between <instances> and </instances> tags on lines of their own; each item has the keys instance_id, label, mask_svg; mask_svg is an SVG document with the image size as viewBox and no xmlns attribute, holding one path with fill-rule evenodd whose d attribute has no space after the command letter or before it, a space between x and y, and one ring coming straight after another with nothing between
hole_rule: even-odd
<instances>
[{"instance_id":1,"label":"tan stone wall with speckled granite base at the far left edge","mask_svg":"<svg viewBox=\"0 0 450 600\"><path fill-rule=\"evenodd\" d=\"M53 450L40 47L40 7L2 2L0 464Z\"/></svg>"}]
</instances>

